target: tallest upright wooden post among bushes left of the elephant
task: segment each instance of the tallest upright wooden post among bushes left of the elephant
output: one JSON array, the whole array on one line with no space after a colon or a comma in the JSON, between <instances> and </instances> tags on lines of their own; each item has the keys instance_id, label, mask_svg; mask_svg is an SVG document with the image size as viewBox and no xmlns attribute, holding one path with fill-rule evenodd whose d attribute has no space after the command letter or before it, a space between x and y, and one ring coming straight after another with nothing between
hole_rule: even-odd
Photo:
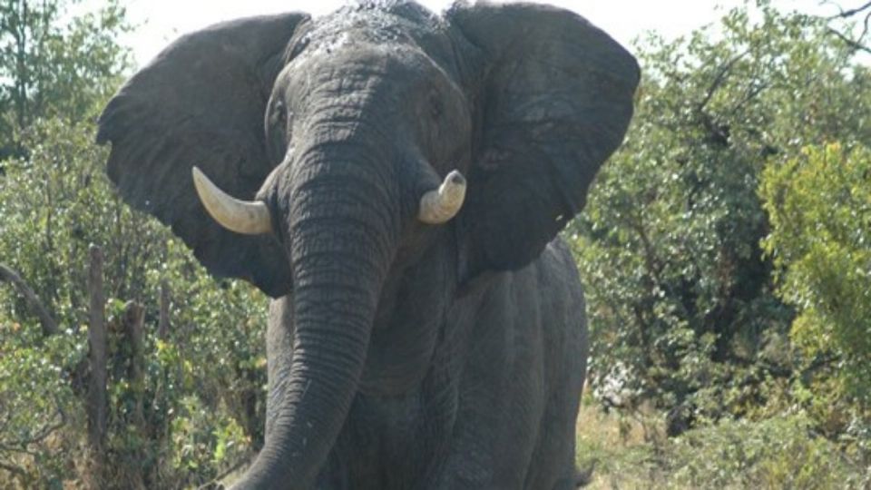
<instances>
[{"instance_id":1,"label":"tallest upright wooden post among bushes left of the elephant","mask_svg":"<svg viewBox=\"0 0 871 490\"><path fill-rule=\"evenodd\" d=\"M103 458L106 436L106 322L103 295L103 250L90 247L91 264L88 269L88 292L91 298L91 322L88 325L88 359L91 377L88 384L88 443L99 465ZM98 482L99 483L99 482Z\"/></svg>"}]
</instances>

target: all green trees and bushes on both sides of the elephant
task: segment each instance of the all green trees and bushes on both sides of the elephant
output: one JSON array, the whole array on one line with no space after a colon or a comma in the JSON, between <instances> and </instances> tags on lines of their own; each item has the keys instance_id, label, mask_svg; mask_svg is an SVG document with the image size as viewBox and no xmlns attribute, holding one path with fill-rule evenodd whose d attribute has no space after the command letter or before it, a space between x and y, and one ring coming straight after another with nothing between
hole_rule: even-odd
<instances>
[{"instance_id":1,"label":"all green trees and bushes on both sides of the elephant","mask_svg":"<svg viewBox=\"0 0 871 490\"><path fill-rule=\"evenodd\" d=\"M60 327L0 282L0 488L207 485L262 443L267 300L114 194L93 122L132 72L132 27L117 1L72 3L0 3L0 264ZM871 486L871 52L850 25L867 13L761 1L633 48L627 141L564 233L589 299L594 487ZM83 407L91 243L111 317L103 482ZM141 384L112 329L130 299Z\"/></svg>"}]
</instances>

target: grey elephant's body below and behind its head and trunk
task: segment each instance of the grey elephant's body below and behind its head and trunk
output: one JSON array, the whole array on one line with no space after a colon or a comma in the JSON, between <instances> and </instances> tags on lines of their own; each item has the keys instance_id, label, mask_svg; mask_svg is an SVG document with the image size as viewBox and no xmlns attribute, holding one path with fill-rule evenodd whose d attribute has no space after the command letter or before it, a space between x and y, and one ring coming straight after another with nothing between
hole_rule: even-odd
<instances>
[{"instance_id":1,"label":"grey elephant's body below and behind its head and trunk","mask_svg":"<svg viewBox=\"0 0 871 490\"><path fill-rule=\"evenodd\" d=\"M384 303L389 312L317 487L574 488L588 345L582 287L562 240L523 270L487 275L453 294L432 284L434 275L455 284L455 268L428 269L409 271L401 296L425 298L417 289L429 290L439 297L429 304L447 303L442 314ZM267 437L285 395L291 305L277 299L270 311ZM397 356L397 338L416 344L399 346L416 355Z\"/></svg>"}]
</instances>

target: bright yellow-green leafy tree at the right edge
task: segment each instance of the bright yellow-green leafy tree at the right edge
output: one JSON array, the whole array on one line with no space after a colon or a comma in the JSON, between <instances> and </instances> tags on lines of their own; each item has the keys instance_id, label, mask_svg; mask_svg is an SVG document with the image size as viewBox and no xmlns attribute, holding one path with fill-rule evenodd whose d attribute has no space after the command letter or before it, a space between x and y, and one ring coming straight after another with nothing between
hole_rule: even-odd
<instances>
[{"instance_id":1,"label":"bright yellow-green leafy tree at the right edge","mask_svg":"<svg viewBox=\"0 0 871 490\"><path fill-rule=\"evenodd\" d=\"M871 433L871 150L808 146L769 165L759 192L778 295L797 310L792 338L814 367L806 402L828 432Z\"/></svg>"}]
</instances>

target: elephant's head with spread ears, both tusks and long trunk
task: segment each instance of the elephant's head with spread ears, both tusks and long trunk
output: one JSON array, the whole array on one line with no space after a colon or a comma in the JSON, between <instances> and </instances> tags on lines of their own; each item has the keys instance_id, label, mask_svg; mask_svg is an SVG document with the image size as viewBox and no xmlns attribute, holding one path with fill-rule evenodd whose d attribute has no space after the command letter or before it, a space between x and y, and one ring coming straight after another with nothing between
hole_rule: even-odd
<instances>
[{"instance_id":1,"label":"elephant's head with spread ears, both tusks and long trunk","mask_svg":"<svg viewBox=\"0 0 871 490\"><path fill-rule=\"evenodd\" d=\"M621 143L638 78L563 10L387 2L215 25L122 87L97 139L123 198L215 275L292 296L291 395L243 485L313 485L382 287L436 237L461 281L541 253Z\"/></svg>"}]
</instances>

